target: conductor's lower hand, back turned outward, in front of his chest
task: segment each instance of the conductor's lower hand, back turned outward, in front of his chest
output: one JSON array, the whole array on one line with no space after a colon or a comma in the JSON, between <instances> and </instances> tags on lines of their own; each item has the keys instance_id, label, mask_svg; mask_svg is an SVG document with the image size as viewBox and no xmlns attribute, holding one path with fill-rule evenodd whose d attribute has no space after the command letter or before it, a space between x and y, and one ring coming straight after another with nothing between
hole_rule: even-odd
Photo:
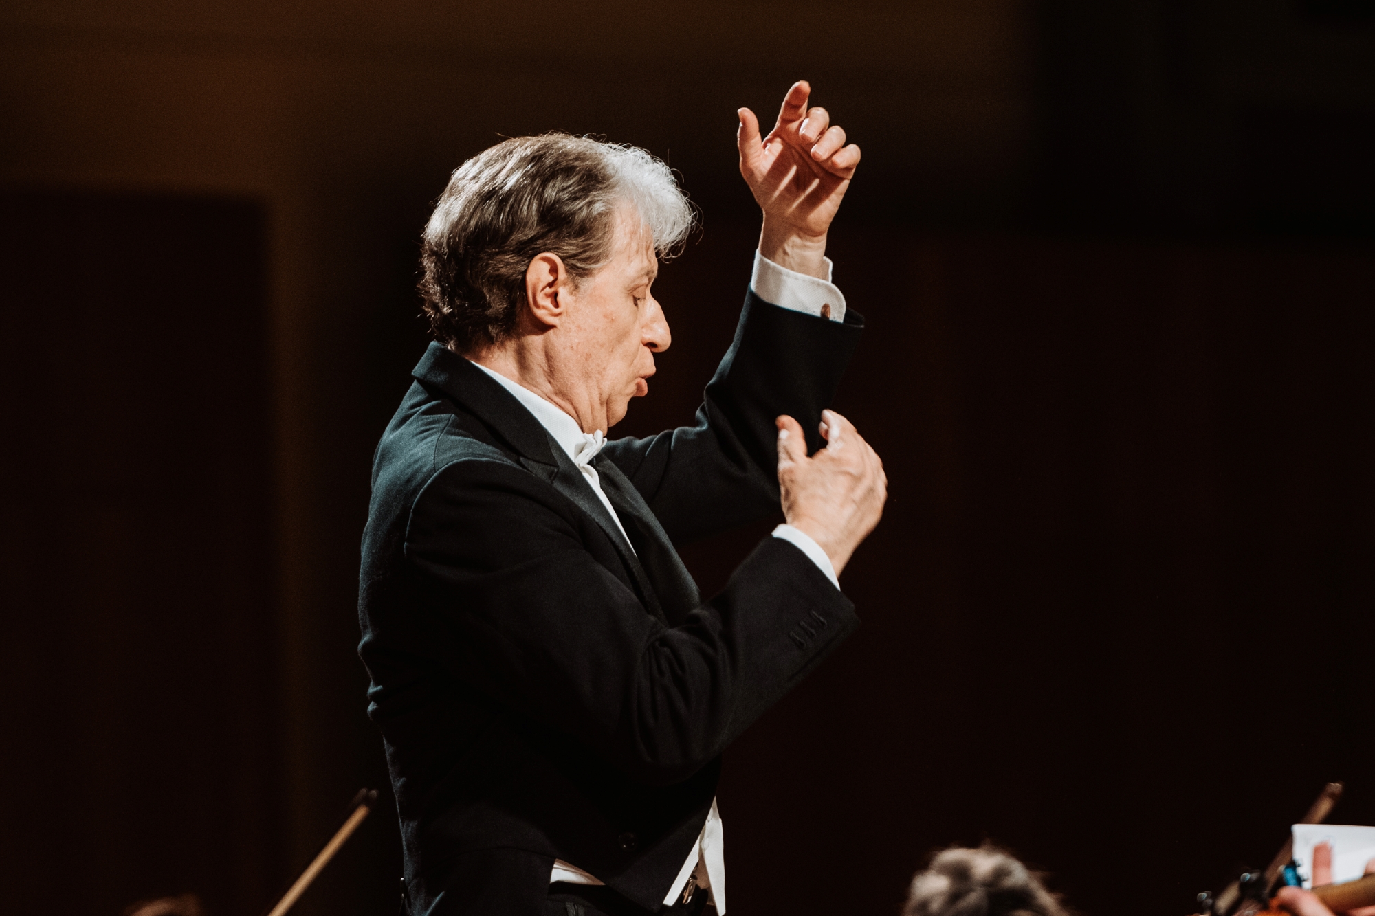
<instances>
[{"instance_id":1,"label":"conductor's lower hand, back turned outward, in front of his chest","mask_svg":"<svg viewBox=\"0 0 1375 916\"><path fill-rule=\"evenodd\" d=\"M778 488L782 514L826 552L836 575L869 536L888 499L883 461L854 425L821 411L826 447L807 457L807 440L792 417L778 417Z\"/></svg>"}]
</instances>

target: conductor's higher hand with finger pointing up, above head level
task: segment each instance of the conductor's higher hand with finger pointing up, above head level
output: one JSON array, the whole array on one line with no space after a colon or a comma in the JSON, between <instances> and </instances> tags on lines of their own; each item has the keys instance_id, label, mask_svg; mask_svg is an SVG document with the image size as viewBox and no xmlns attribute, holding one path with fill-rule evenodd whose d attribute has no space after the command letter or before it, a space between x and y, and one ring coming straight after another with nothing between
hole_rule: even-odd
<instances>
[{"instance_id":1,"label":"conductor's higher hand with finger pointing up, above head level","mask_svg":"<svg viewBox=\"0 0 1375 916\"><path fill-rule=\"evenodd\" d=\"M825 109L807 107L811 87L799 80L784 96L778 122L760 139L759 118L740 109L740 173L764 212L759 250L791 270L825 276L826 231L850 179L859 147L830 124Z\"/></svg>"}]
</instances>

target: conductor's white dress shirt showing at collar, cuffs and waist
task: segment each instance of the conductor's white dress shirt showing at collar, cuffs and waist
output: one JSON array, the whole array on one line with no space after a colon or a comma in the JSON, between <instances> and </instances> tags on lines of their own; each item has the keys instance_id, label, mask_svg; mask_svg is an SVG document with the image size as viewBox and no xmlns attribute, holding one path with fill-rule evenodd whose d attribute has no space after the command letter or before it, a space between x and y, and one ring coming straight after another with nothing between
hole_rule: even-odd
<instances>
[{"instance_id":1,"label":"conductor's white dress shirt showing at collar, cuffs and waist","mask_svg":"<svg viewBox=\"0 0 1375 916\"><path fill-rule=\"evenodd\" d=\"M826 261L826 278L825 281L815 276L807 276L806 274L798 274L785 267L774 264L767 257L755 252L755 268L749 278L749 287L754 290L755 296L771 303L781 308L788 308L795 312L806 312L808 315L825 316L833 322L844 320L846 316L846 298L840 294L840 290L829 282L832 264L830 259ZM558 443L558 446L568 452L568 457L578 465L578 469L591 484L593 492L601 499L602 505L606 506L606 512L610 514L612 521L620 528L622 538L626 538L626 530L620 524L620 517L610 505L610 499L602 492L601 480L597 476L597 469L591 466L591 459L597 457L597 452L602 450L606 444L606 433L602 429L597 429L591 433L584 433L583 428L573 419L572 415L564 411L553 402L544 400L540 395L536 395L524 385L506 378L500 373L483 366L478 362L473 362L474 366L481 369L484 373L491 375L496 382L509 391L516 400L518 400L525 410L528 410L535 419L544 428L546 432ZM830 583L840 587L839 579L836 579L835 567L830 565L830 558L826 552L821 549L815 541L811 539L804 531L793 528L792 525L782 524L774 528L773 536L781 538L788 543L792 543L799 550L802 550L808 560L817 564ZM626 538L626 543L630 545L630 538ZM634 553L635 547L630 547ZM688 887L688 880L693 879L694 887L707 888L711 894L711 902L716 906L716 912L725 916L726 912L726 858L725 858L725 825L720 821L720 813L716 810L716 800L711 802L711 811L707 813L707 822L701 827L701 833L697 836L697 844L688 854L683 861L682 869L678 872L678 879L674 882L672 887L668 888L668 895L664 897L664 905L668 906L674 904L679 897L682 897L685 888ZM565 882L568 884L602 884L595 876L588 875L583 869L578 868L571 862L564 860L554 860L554 869L549 876L549 882Z\"/></svg>"}]
</instances>

